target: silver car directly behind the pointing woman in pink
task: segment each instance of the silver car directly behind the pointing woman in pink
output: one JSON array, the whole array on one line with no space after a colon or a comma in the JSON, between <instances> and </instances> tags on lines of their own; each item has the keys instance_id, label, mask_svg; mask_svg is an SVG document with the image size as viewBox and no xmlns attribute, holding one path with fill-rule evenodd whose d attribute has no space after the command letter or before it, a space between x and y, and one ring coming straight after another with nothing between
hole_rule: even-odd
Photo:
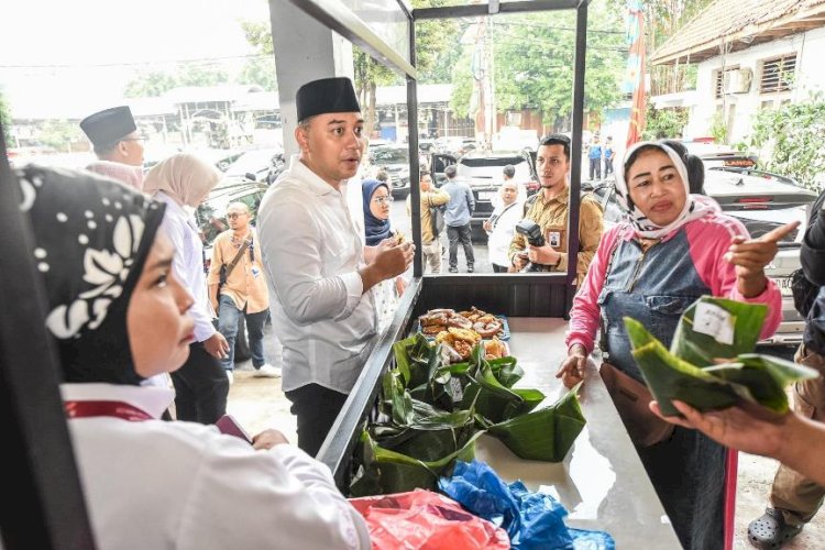
<instances>
[{"instance_id":1,"label":"silver car directly behind the pointing woman in pink","mask_svg":"<svg viewBox=\"0 0 825 550\"><path fill-rule=\"evenodd\" d=\"M605 229L622 219L612 183L597 186L593 193L604 208ZM766 346L795 346L802 341L805 320L793 307L790 275L800 267L800 246L816 194L800 186L793 178L768 172L712 167L705 173L705 193L716 199L722 209L739 219L751 237L760 237L794 220L801 229L779 243L777 257L766 267L782 292L782 323L777 333L760 342ZM787 351L787 350L785 350Z\"/></svg>"}]
</instances>

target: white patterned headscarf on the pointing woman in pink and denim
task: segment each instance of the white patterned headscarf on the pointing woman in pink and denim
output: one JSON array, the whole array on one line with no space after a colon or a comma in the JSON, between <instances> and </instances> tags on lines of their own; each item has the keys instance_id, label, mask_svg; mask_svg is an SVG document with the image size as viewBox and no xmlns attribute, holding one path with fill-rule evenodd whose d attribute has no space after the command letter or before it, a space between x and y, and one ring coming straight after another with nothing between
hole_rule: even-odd
<instances>
[{"instance_id":1,"label":"white patterned headscarf on the pointing woman in pink and denim","mask_svg":"<svg viewBox=\"0 0 825 550\"><path fill-rule=\"evenodd\" d=\"M628 191L627 182L625 180L625 174L628 169L627 162L630 160L636 151L641 147L656 147L666 153L673 162L673 167L682 178L682 185L684 185L684 193L686 200L684 207L682 207L681 213L675 220L670 222L666 227L660 227L650 221L645 213L639 210L639 207L634 205L630 199ZM639 142L627 150L625 153L625 160L622 163L622 167L616 170L616 195L619 207L627 216L630 224L636 230L636 235L642 239L660 239L672 231L681 228L689 221L697 220L707 216L711 212L719 211L719 206L715 200L705 197L703 195L691 195L690 180L688 178L688 167L684 164L684 160L673 148L662 142L645 141Z\"/></svg>"}]
</instances>

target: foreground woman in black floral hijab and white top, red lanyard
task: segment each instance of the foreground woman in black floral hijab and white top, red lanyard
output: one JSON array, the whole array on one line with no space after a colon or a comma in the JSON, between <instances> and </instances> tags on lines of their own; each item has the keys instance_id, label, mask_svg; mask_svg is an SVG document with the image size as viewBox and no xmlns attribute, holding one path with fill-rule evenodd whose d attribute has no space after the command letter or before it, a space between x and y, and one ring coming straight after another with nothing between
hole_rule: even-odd
<instances>
[{"instance_id":1,"label":"foreground woman in black floral hijab and white top, red lanyard","mask_svg":"<svg viewBox=\"0 0 825 550\"><path fill-rule=\"evenodd\" d=\"M370 548L329 469L280 432L163 421L172 389L139 385L194 338L164 205L89 173L19 176L97 548Z\"/></svg>"}]
</instances>

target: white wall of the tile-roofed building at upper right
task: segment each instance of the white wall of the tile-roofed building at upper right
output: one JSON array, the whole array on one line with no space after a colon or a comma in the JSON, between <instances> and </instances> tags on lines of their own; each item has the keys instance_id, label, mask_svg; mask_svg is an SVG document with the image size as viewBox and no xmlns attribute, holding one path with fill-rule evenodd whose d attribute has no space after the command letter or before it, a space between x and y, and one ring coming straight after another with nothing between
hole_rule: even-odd
<instances>
[{"instance_id":1,"label":"white wall of the tile-roofed building at upper right","mask_svg":"<svg viewBox=\"0 0 825 550\"><path fill-rule=\"evenodd\" d=\"M796 86L784 95L761 96L759 80L761 62L777 56L796 53ZM761 102L770 98L788 98L793 102L805 101L812 94L825 94L825 28L806 33L777 40L728 54L724 58L726 67L748 67L754 72L754 81L747 94L725 96L725 109L736 105L733 128L728 141L736 143L745 139L751 129L752 118ZM711 135L713 116L722 99L714 97L714 74L723 67L723 57L717 56L698 64L696 78L696 103L691 107L691 114L685 127L685 138Z\"/></svg>"}]
</instances>

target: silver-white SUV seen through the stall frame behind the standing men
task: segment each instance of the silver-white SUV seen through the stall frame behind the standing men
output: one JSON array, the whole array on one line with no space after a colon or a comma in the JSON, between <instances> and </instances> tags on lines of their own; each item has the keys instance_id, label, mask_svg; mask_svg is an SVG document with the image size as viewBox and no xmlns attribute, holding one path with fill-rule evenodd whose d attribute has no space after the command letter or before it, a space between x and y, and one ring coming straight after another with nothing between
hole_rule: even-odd
<instances>
[{"instance_id":1,"label":"silver-white SUV seen through the stall frame behind the standing men","mask_svg":"<svg viewBox=\"0 0 825 550\"><path fill-rule=\"evenodd\" d=\"M436 168L437 186L443 185L443 168L451 164L457 165L455 178L470 184L475 198L475 211L470 220L474 242L487 242L482 224L495 209L505 166L512 164L516 168L514 179L518 184L519 199L526 200L539 189L535 164L528 152L465 155L459 160L452 155L432 155L431 165Z\"/></svg>"}]
</instances>

